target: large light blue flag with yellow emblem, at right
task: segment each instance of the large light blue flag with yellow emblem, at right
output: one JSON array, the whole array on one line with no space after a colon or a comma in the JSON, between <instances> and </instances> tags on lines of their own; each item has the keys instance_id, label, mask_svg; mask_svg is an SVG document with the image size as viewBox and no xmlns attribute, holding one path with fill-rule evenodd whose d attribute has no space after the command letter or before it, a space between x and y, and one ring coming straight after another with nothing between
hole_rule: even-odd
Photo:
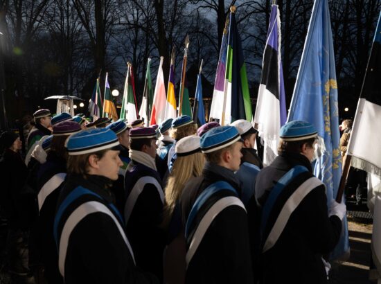
<instances>
[{"instance_id":1,"label":"large light blue flag with yellow emblem, at right","mask_svg":"<svg viewBox=\"0 0 381 284\"><path fill-rule=\"evenodd\" d=\"M308 121L317 128L320 147L319 157L314 163L314 175L326 184L329 204L339 188L342 160L328 0L314 1L287 121ZM343 223L342 236L331 258L339 258L349 251L346 218Z\"/></svg>"}]
</instances>

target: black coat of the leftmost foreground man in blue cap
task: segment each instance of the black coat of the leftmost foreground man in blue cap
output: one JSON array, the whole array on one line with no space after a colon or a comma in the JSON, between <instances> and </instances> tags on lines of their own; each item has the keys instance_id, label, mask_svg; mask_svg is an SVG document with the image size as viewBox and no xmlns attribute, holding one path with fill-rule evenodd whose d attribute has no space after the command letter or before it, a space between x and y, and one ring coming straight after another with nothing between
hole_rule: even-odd
<instances>
[{"instance_id":1,"label":"black coat of the leftmost foreground man in blue cap","mask_svg":"<svg viewBox=\"0 0 381 284\"><path fill-rule=\"evenodd\" d=\"M58 239L70 213L85 202L100 202L112 213L115 212L115 207L110 206L114 202L114 197L108 189L110 184L111 180L96 175L87 175L86 179L73 175L67 177L58 200L58 208L78 186L90 190L95 195L82 195L67 207L58 224ZM114 213L114 217L120 220L118 214ZM154 276L141 272L134 265L130 250L116 223L102 212L87 215L73 229L67 247L64 278L66 284L157 283Z\"/></svg>"}]
</instances>

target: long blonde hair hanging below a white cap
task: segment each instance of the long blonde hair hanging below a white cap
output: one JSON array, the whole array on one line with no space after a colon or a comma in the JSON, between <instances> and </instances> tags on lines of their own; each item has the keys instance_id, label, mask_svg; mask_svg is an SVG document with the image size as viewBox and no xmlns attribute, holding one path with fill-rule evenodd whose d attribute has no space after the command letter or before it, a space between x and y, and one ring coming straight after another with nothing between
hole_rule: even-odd
<instances>
[{"instance_id":1,"label":"long blonde hair hanging below a white cap","mask_svg":"<svg viewBox=\"0 0 381 284\"><path fill-rule=\"evenodd\" d=\"M164 222L168 224L172 218L173 209L179 200L186 182L191 177L199 177L204 168L204 155L201 152L184 157L177 157L166 186L166 207Z\"/></svg>"}]
</instances>

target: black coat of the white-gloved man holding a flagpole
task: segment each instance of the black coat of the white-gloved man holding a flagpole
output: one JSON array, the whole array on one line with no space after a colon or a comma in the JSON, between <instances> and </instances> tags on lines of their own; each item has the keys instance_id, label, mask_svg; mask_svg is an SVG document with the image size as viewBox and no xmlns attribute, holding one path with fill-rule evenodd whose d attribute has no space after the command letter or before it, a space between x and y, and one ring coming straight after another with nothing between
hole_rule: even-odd
<instances>
[{"instance_id":1,"label":"black coat of the white-gloved man holding a flagpole","mask_svg":"<svg viewBox=\"0 0 381 284\"><path fill-rule=\"evenodd\" d=\"M302 182L299 179L313 177L310 161L303 155L282 154L259 172L256 194L260 195L256 197L261 206L265 204L276 182L296 165L305 166L309 172L295 177L289 184L291 188L292 184ZM260 256L263 283L327 282L321 256L337 245L342 222L335 215L328 218L325 190L324 185L317 186L304 197L291 214L274 247ZM270 218L272 215L269 215Z\"/></svg>"}]
</instances>

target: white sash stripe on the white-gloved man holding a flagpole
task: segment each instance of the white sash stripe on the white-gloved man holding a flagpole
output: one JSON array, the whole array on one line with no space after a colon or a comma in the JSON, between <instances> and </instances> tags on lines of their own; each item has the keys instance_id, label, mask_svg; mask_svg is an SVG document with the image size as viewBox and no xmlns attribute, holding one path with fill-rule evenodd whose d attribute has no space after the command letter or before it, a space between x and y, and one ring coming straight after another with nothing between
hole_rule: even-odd
<instances>
[{"instance_id":1,"label":"white sash stripe on the white-gloved man holding a flagpole","mask_svg":"<svg viewBox=\"0 0 381 284\"><path fill-rule=\"evenodd\" d=\"M294 193L292 193L292 195L287 199L287 202L283 205L278 218L276 218L276 222L274 223L274 226L266 239L265 245L263 246L263 252L271 249L275 245L279 236L281 236L283 229L285 229L292 212L294 212L296 207L299 206L304 197L308 195L312 189L320 186L321 184L323 183L316 177L310 177L304 181L303 184L301 184L301 186L294 191Z\"/></svg>"}]
</instances>

